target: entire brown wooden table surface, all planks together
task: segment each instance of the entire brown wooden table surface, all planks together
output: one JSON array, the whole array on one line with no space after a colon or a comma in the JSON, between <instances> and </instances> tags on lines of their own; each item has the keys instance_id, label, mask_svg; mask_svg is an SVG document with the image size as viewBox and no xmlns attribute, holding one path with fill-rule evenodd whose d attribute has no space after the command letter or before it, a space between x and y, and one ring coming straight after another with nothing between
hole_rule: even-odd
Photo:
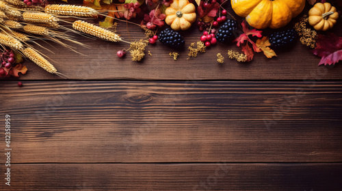
<instances>
[{"instance_id":1,"label":"entire brown wooden table surface, all planks together","mask_svg":"<svg viewBox=\"0 0 342 191\"><path fill-rule=\"evenodd\" d=\"M341 63L318 67L299 42L250 63L228 59L235 44L187 60L200 38L190 31L177 61L160 42L140 63L116 56L127 44L77 35L91 46L77 46L84 55L35 46L69 79L26 62L23 87L1 81L0 146L10 115L12 151L11 186L2 154L0 189L342 190ZM118 33L129 40L124 23Z\"/></svg>"}]
</instances>

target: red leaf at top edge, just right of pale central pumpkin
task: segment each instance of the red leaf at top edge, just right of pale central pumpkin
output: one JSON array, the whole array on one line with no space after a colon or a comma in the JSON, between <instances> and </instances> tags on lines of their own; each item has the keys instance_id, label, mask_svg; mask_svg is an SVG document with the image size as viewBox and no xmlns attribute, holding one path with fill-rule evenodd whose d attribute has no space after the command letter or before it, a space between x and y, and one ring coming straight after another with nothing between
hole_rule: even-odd
<instances>
[{"instance_id":1,"label":"red leaf at top edge, just right of pale central pumpkin","mask_svg":"<svg viewBox=\"0 0 342 191\"><path fill-rule=\"evenodd\" d=\"M211 22L211 20L214 19L214 17L218 14L218 11L220 10L220 4L219 3L211 3L207 8L204 7L204 1L200 1L200 5L198 5L197 13L198 18L203 20L205 23Z\"/></svg>"}]
</instances>

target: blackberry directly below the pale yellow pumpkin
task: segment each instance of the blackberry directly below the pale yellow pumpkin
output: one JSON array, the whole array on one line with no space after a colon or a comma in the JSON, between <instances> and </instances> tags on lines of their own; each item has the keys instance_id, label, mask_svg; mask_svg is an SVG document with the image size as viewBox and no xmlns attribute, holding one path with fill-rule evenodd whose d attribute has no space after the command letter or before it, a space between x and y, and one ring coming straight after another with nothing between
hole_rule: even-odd
<instances>
[{"instance_id":1,"label":"blackberry directly below the pale yellow pumpkin","mask_svg":"<svg viewBox=\"0 0 342 191\"><path fill-rule=\"evenodd\" d=\"M170 28L161 31L158 39L161 43L171 48L182 48L185 44L183 36Z\"/></svg>"}]
</instances>

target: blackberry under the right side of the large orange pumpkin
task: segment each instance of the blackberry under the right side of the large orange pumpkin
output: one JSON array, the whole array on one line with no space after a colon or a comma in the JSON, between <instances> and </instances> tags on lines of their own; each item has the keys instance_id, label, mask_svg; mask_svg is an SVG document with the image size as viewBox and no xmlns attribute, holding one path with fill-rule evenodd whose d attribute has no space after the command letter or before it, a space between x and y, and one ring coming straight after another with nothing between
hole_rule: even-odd
<instances>
[{"instance_id":1,"label":"blackberry under the right side of the large orange pumpkin","mask_svg":"<svg viewBox=\"0 0 342 191\"><path fill-rule=\"evenodd\" d=\"M272 33L269 36L269 43L271 43L272 48L279 50L280 48L289 48L295 42L295 38L297 38L295 30L288 29L287 31Z\"/></svg>"}]
</instances>

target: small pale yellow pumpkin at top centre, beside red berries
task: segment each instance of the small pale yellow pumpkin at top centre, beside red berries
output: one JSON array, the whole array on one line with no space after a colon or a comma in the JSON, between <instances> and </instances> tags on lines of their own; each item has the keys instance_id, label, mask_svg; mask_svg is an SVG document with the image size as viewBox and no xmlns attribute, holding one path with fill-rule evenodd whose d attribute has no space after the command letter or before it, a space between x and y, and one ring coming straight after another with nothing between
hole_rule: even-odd
<instances>
[{"instance_id":1,"label":"small pale yellow pumpkin at top centre, beside red berries","mask_svg":"<svg viewBox=\"0 0 342 191\"><path fill-rule=\"evenodd\" d=\"M174 0L165 14L165 23L175 31L189 29L196 20L195 5L188 0Z\"/></svg>"}]
</instances>

